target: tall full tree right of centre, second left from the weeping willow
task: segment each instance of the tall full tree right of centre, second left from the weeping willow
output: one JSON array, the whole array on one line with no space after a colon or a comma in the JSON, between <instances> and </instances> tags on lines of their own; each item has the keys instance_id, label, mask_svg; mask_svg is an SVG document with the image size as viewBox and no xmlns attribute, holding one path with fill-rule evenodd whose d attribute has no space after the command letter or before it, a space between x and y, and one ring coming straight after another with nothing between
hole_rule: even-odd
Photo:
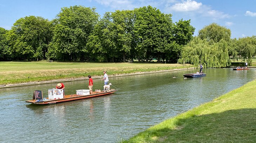
<instances>
[{"instance_id":1,"label":"tall full tree right of centre, second left from the weeping willow","mask_svg":"<svg viewBox=\"0 0 256 143\"><path fill-rule=\"evenodd\" d=\"M135 9L134 35L139 61L144 53L148 62L150 55L157 54L159 57L164 52L168 43L169 20L159 9L151 6Z\"/></svg>"}]
</instances>

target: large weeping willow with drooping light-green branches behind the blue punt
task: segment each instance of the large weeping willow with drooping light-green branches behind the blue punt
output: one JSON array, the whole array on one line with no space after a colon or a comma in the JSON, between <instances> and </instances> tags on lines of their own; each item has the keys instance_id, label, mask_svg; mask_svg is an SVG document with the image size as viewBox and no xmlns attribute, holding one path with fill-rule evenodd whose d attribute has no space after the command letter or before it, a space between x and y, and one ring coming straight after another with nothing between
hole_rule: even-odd
<instances>
[{"instance_id":1,"label":"large weeping willow with drooping light-green branches behind the blue punt","mask_svg":"<svg viewBox=\"0 0 256 143\"><path fill-rule=\"evenodd\" d=\"M210 45L206 39L194 37L183 47L178 63L191 63L196 67L202 63L206 68L230 66L228 44L222 39Z\"/></svg>"}]
</instances>

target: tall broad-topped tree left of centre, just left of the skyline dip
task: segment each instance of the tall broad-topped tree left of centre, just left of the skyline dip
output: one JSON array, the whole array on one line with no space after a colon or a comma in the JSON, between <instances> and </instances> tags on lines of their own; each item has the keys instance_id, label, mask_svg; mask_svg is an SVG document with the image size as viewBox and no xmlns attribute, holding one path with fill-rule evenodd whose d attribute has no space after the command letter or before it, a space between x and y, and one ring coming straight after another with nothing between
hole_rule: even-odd
<instances>
[{"instance_id":1,"label":"tall broad-topped tree left of centre, just left of the skyline dip","mask_svg":"<svg viewBox=\"0 0 256 143\"><path fill-rule=\"evenodd\" d=\"M54 27L53 42L50 44L49 57L66 60L89 59L86 44L99 14L96 8L70 6L61 8Z\"/></svg>"}]
</instances>

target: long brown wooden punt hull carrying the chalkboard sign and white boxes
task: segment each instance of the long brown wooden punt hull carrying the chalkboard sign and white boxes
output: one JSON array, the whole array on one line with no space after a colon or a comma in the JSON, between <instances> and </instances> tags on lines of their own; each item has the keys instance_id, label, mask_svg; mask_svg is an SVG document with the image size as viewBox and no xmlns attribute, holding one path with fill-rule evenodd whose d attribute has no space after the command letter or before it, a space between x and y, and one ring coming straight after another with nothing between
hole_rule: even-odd
<instances>
[{"instance_id":1,"label":"long brown wooden punt hull carrying the chalkboard sign and white boxes","mask_svg":"<svg viewBox=\"0 0 256 143\"><path fill-rule=\"evenodd\" d=\"M32 103L32 104L41 104L41 105L55 104L55 103L60 103L60 102L66 102L66 101L73 101L73 100L79 100L79 99L109 95L109 94L112 94L116 91L117 90L114 90L114 89L109 90L107 92L103 92L103 91L96 92L96 91L94 91L93 94L90 94L90 95L76 95L76 94L73 94L73 95L65 95L64 98L61 98L61 99L43 100L43 101L27 100L26 102ZM46 99L48 99L48 98L46 98Z\"/></svg>"}]
</instances>

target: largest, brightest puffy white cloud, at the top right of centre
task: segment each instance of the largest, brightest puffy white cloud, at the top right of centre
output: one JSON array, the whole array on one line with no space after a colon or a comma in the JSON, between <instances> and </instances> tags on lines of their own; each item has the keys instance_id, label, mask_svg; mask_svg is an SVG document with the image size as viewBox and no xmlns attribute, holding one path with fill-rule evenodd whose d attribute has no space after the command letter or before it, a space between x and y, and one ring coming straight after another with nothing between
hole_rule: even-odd
<instances>
[{"instance_id":1,"label":"largest, brightest puffy white cloud, at the top right of centre","mask_svg":"<svg viewBox=\"0 0 256 143\"><path fill-rule=\"evenodd\" d=\"M176 12L189 12L199 9L201 6L201 2L187 0L183 3L176 3L175 5L171 6L171 10Z\"/></svg>"}]
</instances>

